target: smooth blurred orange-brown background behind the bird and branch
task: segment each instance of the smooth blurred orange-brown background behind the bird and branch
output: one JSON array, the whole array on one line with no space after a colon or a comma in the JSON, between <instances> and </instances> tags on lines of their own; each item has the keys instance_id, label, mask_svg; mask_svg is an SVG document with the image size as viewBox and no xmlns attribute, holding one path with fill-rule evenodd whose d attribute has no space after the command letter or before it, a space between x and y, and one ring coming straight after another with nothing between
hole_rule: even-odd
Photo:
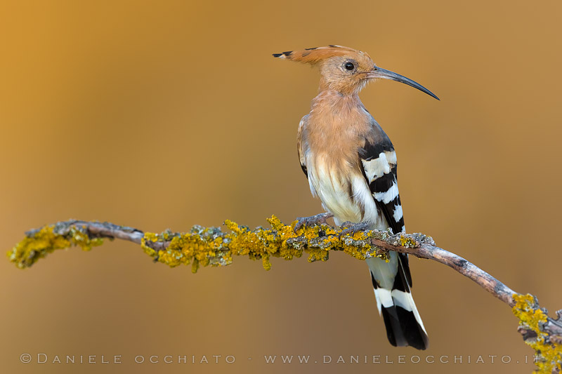
<instances>
[{"instance_id":1,"label":"smooth blurred orange-brown background behind the bird and branch","mask_svg":"<svg viewBox=\"0 0 562 374\"><path fill-rule=\"evenodd\" d=\"M295 142L318 72L270 53L341 44L441 98L391 81L361 95L397 149L408 232L430 234L554 312L561 11L560 1L3 1L0 247L68 218L160 232L320 213ZM4 258L1 369L532 371L507 305L443 265L410 263L426 352L388 344L367 267L343 253L325 263L274 259L270 272L237 258L195 275L122 241L58 251L24 271ZM37 363L38 353L97 363ZM263 359L282 354L311 363ZM135 363L138 355L160 362ZM183 355L188 363L177 362ZM383 363L363 363L373 355ZM435 363L424 363L429 355Z\"/></svg>"}]
</instances>

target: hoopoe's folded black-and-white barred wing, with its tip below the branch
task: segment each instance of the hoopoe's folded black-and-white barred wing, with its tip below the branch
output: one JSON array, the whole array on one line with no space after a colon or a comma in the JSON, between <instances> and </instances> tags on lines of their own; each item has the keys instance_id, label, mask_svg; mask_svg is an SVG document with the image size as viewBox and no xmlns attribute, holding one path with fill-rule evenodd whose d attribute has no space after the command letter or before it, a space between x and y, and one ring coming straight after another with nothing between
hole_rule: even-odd
<instances>
[{"instance_id":1,"label":"hoopoe's folded black-and-white barred wing, with its tip below the branch","mask_svg":"<svg viewBox=\"0 0 562 374\"><path fill-rule=\"evenodd\" d=\"M377 208L386 218L388 227L391 227L395 234L404 232L404 217L396 175L396 152L392 142L384 133L381 133L377 141L365 140L365 145L359 150L359 157L363 176L367 180ZM407 283L412 286L407 255L399 255L404 265Z\"/></svg>"}]
</instances>

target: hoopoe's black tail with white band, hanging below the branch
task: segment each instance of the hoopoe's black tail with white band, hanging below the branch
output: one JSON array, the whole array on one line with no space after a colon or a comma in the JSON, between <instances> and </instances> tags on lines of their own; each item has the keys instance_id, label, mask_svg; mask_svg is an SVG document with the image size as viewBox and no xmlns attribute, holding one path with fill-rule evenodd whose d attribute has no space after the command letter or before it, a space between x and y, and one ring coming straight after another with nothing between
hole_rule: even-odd
<instances>
[{"instance_id":1,"label":"hoopoe's black tail with white band, hanging below the branch","mask_svg":"<svg viewBox=\"0 0 562 374\"><path fill-rule=\"evenodd\" d=\"M367 258L379 314L386 326L391 345L426 349L429 345L426 329L417 312L410 286L412 277L404 253L391 252L390 262Z\"/></svg>"}]
</instances>

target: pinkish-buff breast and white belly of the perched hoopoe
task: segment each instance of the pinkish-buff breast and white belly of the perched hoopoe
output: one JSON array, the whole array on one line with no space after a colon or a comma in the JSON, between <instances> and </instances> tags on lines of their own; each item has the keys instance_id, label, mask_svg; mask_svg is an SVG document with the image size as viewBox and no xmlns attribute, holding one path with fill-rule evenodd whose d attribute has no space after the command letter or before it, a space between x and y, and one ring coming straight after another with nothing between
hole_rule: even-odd
<instances>
[{"instance_id":1,"label":"pinkish-buff breast and white belly of the perched hoopoe","mask_svg":"<svg viewBox=\"0 0 562 374\"><path fill-rule=\"evenodd\" d=\"M372 136L372 116L356 96L320 93L299 129L299 147L313 195L336 223L383 218L362 173L359 151Z\"/></svg>"}]
</instances>

